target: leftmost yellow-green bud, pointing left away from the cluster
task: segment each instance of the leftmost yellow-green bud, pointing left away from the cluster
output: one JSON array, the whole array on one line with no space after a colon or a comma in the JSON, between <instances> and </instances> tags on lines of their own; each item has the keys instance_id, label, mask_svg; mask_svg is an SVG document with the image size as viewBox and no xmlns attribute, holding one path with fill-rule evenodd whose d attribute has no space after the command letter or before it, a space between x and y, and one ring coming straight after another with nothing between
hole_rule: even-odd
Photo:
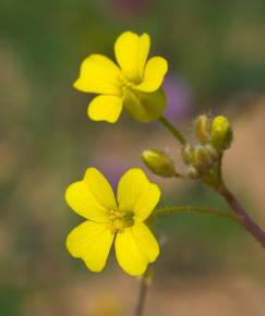
<instances>
[{"instance_id":1,"label":"leftmost yellow-green bud, pointing left away from the cluster","mask_svg":"<svg viewBox=\"0 0 265 316\"><path fill-rule=\"evenodd\" d=\"M157 175L170 178L176 174L172 159L158 149L143 151L142 159L146 167Z\"/></svg>"}]
</instances>

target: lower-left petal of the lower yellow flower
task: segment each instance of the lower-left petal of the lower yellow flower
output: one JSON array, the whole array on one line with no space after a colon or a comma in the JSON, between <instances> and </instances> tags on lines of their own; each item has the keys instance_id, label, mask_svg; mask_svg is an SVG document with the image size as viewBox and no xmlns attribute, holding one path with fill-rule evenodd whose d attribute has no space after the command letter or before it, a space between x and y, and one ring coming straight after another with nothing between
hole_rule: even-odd
<instances>
[{"instance_id":1,"label":"lower-left petal of the lower yellow flower","mask_svg":"<svg viewBox=\"0 0 265 316\"><path fill-rule=\"evenodd\" d=\"M115 234L104 223L85 221L74 228L67 238L67 247L73 257L82 258L94 272L101 271Z\"/></svg>"}]
</instances>

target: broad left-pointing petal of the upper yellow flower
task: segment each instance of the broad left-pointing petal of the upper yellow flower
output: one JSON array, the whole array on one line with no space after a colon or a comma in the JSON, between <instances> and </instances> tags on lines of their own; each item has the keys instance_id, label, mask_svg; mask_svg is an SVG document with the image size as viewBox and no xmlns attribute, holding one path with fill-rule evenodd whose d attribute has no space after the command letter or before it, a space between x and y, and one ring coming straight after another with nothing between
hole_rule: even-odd
<instances>
[{"instance_id":1,"label":"broad left-pointing petal of the upper yellow flower","mask_svg":"<svg viewBox=\"0 0 265 316\"><path fill-rule=\"evenodd\" d=\"M91 54L81 64L80 76L74 87L84 93L120 95L121 71L103 54Z\"/></svg>"}]
</instances>

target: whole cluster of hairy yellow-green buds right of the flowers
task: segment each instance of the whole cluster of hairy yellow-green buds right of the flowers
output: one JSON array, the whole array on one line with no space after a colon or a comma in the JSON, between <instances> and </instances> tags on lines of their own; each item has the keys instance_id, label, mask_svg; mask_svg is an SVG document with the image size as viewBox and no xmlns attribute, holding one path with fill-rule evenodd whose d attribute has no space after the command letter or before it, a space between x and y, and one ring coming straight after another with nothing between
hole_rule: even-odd
<instances>
[{"instance_id":1,"label":"whole cluster of hairy yellow-green buds right of the flowers","mask_svg":"<svg viewBox=\"0 0 265 316\"><path fill-rule=\"evenodd\" d=\"M184 174L177 173L173 160L158 149L143 151L144 163L154 174L162 178L182 177L204 180L213 178L213 174L218 171L224 150L231 145L231 125L225 117L210 119L202 114L194 122L194 134L197 143L194 146L188 144L182 148L182 158L188 167Z\"/></svg>"}]
</instances>

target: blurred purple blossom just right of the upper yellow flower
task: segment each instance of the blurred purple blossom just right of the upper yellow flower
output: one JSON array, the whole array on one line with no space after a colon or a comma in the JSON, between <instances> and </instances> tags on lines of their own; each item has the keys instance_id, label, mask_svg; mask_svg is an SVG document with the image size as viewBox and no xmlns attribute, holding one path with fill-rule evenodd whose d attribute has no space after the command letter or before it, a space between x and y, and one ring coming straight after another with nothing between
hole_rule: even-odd
<instances>
[{"instance_id":1,"label":"blurred purple blossom just right of the upper yellow flower","mask_svg":"<svg viewBox=\"0 0 265 316\"><path fill-rule=\"evenodd\" d=\"M168 107L165 117L179 121L192 112L192 93L190 86L180 77L169 73L162 84L167 94Z\"/></svg>"}]
</instances>

